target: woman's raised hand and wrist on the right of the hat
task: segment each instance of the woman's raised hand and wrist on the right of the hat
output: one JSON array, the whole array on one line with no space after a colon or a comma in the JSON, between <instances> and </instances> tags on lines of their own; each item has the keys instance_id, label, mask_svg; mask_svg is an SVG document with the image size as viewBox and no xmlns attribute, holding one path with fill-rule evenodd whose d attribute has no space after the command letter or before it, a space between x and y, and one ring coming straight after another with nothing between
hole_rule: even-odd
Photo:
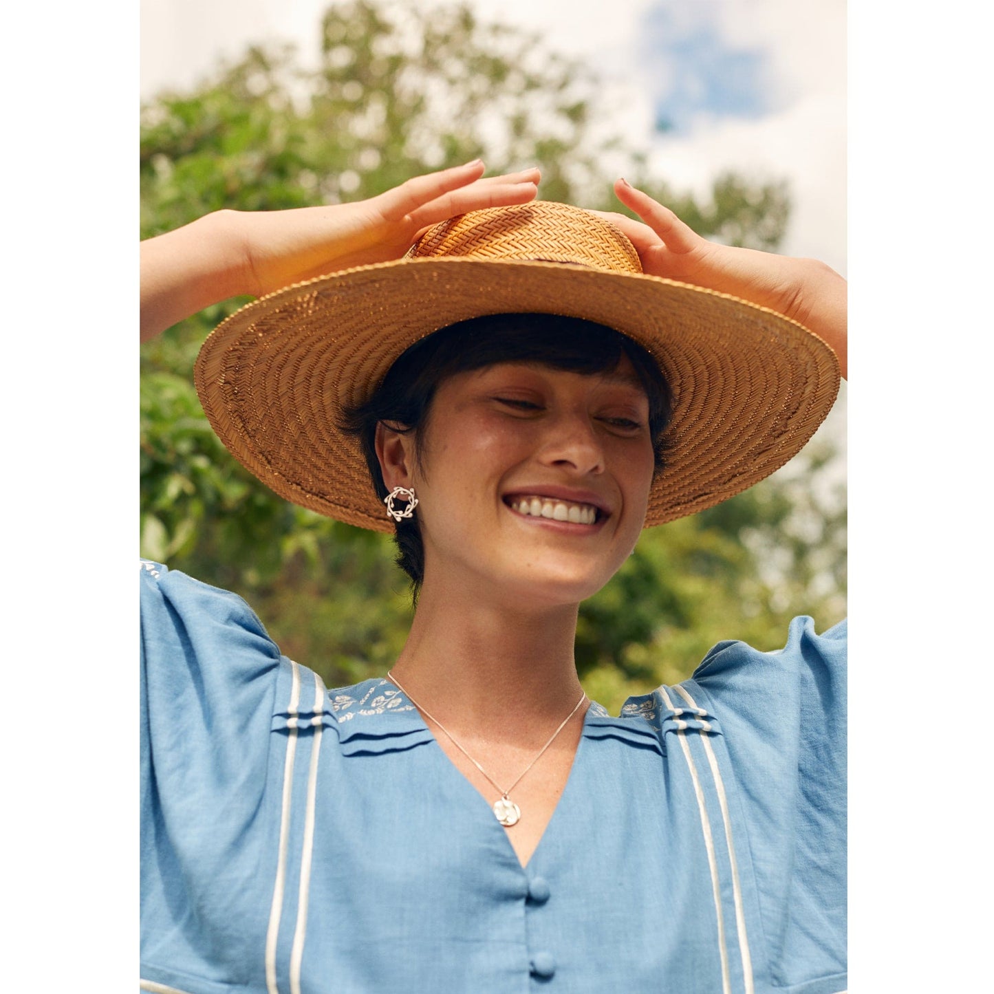
<instances>
[{"instance_id":1,"label":"woman's raised hand and wrist on the right of the hat","mask_svg":"<svg viewBox=\"0 0 994 994\"><path fill-rule=\"evenodd\" d=\"M614 184L614 193L644 224L594 213L630 239L644 272L730 293L799 321L831 346L846 375L846 281L834 269L812 258L709 242L625 180Z\"/></svg>"}]
</instances>

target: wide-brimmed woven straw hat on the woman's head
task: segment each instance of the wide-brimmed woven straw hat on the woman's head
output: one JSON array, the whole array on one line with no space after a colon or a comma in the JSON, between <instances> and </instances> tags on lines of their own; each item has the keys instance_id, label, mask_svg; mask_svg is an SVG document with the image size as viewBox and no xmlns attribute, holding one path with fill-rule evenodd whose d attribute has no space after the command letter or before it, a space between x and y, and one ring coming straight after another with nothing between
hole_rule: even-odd
<instances>
[{"instance_id":1,"label":"wide-brimmed woven straw hat on the woman's head","mask_svg":"<svg viewBox=\"0 0 994 994\"><path fill-rule=\"evenodd\" d=\"M462 215L408 257L260 297L204 343L196 385L236 458L279 496L393 530L358 441L338 426L414 342L483 314L538 312L616 328L675 394L669 461L646 526L711 507L801 449L832 407L832 350L782 315L642 273L614 225L539 201Z\"/></svg>"}]
</instances>

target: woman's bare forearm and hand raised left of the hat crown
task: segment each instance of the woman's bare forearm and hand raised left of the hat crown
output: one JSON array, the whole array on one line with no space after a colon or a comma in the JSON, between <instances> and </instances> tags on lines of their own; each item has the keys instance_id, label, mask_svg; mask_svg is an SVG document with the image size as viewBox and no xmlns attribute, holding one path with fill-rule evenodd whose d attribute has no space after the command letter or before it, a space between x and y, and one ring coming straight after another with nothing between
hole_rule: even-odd
<instances>
[{"instance_id":1,"label":"woman's bare forearm and hand raised left of the hat crown","mask_svg":"<svg viewBox=\"0 0 994 994\"><path fill-rule=\"evenodd\" d=\"M213 303L399 258L430 225L535 198L539 171L481 179L482 162L418 176L354 204L218 211L141 244L141 338Z\"/></svg>"}]
</instances>

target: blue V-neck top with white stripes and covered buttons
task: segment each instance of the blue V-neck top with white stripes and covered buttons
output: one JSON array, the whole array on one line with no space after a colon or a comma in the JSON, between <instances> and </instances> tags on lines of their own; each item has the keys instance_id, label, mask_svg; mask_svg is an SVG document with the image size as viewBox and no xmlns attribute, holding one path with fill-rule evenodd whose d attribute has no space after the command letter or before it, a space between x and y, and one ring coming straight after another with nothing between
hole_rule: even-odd
<instances>
[{"instance_id":1,"label":"blue V-neck top with white stripes and covered buttons","mask_svg":"<svg viewBox=\"0 0 994 994\"><path fill-rule=\"evenodd\" d=\"M844 623L591 705L523 868L397 687L328 691L241 597L141 576L143 990L846 987Z\"/></svg>"}]
</instances>

